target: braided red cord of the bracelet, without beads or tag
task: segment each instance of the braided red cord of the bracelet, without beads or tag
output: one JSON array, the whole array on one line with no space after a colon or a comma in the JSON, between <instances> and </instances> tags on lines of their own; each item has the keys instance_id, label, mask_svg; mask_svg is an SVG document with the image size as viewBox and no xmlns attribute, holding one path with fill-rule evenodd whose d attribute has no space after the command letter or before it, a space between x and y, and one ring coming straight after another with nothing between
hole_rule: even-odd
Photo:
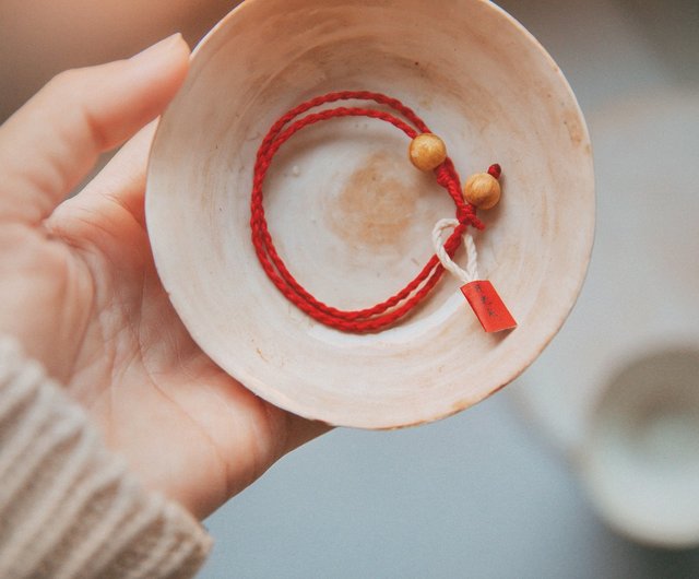
<instances>
[{"instance_id":1,"label":"braided red cord of the bracelet, without beads or tag","mask_svg":"<svg viewBox=\"0 0 699 579\"><path fill-rule=\"evenodd\" d=\"M379 105L386 105L402 115L414 127L392 114L365 107L336 107L318 113L311 113L298 120L298 116L307 113L311 108L320 105L335 103L337 101L374 101ZM419 304L429 291L437 284L443 268L437 256L433 256L420 272L403 290L389 297L376 306L359 310L341 310L328 306L309 294L288 271L272 241L272 236L268 229L262 205L262 186L264 178L272 163L272 158L294 133L320 122L335 117L370 117L390 122L402 130L407 137L414 139L422 132L430 132L427 125L408 107L395 98L390 98L380 93L366 91L344 91L329 93L301 103L283 115L270 129L260 149L254 164L254 175L252 181L252 196L250 200L250 226L252 228L252 244L258 255L260 263L274 285L296 305L300 310L308 314L313 319L345 332L372 332L388 328L396 322L417 304ZM293 122L292 122L293 121ZM291 125L289 125L291 123ZM494 165L493 167L496 167ZM491 167L491 169L493 169ZM495 170L495 169L494 169ZM499 167L497 167L499 176ZM443 187L457 205L457 218L459 226L445 243L445 249L450 257L461 245L462 234L469 225L478 229L483 224L475 214L475 208L464 202L461 194L461 184L459 174L449 157L435 169L437 182Z\"/></svg>"}]
</instances>

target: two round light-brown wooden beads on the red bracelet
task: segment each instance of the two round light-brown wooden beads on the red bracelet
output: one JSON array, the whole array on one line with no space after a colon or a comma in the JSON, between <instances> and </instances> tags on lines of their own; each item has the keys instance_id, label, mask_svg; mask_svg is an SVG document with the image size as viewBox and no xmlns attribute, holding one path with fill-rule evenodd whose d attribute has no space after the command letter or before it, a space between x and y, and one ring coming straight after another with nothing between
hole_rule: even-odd
<instances>
[{"instance_id":1,"label":"two round light-brown wooden beads on the red bracelet","mask_svg":"<svg viewBox=\"0 0 699 579\"><path fill-rule=\"evenodd\" d=\"M436 134L425 132L411 141L408 156L411 163L419 170L435 170L447 159L447 145ZM478 209L490 209L497 205L500 193L500 182L491 173L471 175L463 188L463 198Z\"/></svg>"}]
</instances>

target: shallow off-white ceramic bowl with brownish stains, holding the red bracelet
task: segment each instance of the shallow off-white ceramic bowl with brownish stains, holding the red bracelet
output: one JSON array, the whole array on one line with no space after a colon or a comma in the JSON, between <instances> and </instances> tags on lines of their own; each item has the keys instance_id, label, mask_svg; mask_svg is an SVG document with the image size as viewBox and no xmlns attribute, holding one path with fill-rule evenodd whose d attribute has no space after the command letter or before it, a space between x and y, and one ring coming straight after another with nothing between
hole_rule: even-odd
<instances>
[{"instance_id":1,"label":"shallow off-white ceramic bowl with brownish stains, holding the red bracelet","mask_svg":"<svg viewBox=\"0 0 699 579\"><path fill-rule=\"evenodd\" d=\"M284 111L339 90L413 107L464 179L500 163L502 201L482 214L476 244L516 330L485 333L448 276L410 318L364 335L315 322L268 280L250 240L257 149ZM274 158L270 231L321 300L359 308L393 294L429 259L435 222L453 216L407 145L354 118L298 133ZM590 140L556 63L489 2L249 0L196 49L161 120L146 218L178 315L247 388L334 425L419 424L508 383L562 324L592 246Z\"/></svg>"}]
</instances>

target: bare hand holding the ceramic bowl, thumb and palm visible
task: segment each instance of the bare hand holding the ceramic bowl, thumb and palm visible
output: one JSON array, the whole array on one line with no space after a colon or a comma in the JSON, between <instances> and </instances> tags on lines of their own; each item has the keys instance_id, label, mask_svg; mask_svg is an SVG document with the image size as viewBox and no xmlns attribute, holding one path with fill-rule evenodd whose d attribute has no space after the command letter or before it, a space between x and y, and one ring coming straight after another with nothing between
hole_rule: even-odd
<instances>
[{"instance_id":1,"label":"bare hand holding the ceramic bowl, thumb and palm visible","mask_svg":"<svg viewBox=\"0 0 699 579\"><path fill-rule=\"evenodd\" d=\"M190 339L157 277L143 216L153 127L187 75L179 35L64 72L0 127L0 333L15 335L151 488L204 517L321 434L262 401Z\"/></svg>"}]
</instances>

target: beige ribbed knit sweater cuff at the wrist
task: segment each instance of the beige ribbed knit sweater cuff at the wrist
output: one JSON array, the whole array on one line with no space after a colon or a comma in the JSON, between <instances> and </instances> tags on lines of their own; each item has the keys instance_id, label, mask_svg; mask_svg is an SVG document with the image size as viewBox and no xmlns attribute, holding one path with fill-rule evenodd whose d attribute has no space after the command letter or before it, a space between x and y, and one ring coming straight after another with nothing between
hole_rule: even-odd
<instances>
[{"instance_id":1,"label":"beige ribbed knit sweater cuff at the wrist","mask_svg":"<svg viewBox=\"0 0 699 579\"><path fill-rule=\"evenodd\" d=\"M144 491L82 409L0 336L0 577L188 578L211 539Z\"/></svg>"}]
</instances>

